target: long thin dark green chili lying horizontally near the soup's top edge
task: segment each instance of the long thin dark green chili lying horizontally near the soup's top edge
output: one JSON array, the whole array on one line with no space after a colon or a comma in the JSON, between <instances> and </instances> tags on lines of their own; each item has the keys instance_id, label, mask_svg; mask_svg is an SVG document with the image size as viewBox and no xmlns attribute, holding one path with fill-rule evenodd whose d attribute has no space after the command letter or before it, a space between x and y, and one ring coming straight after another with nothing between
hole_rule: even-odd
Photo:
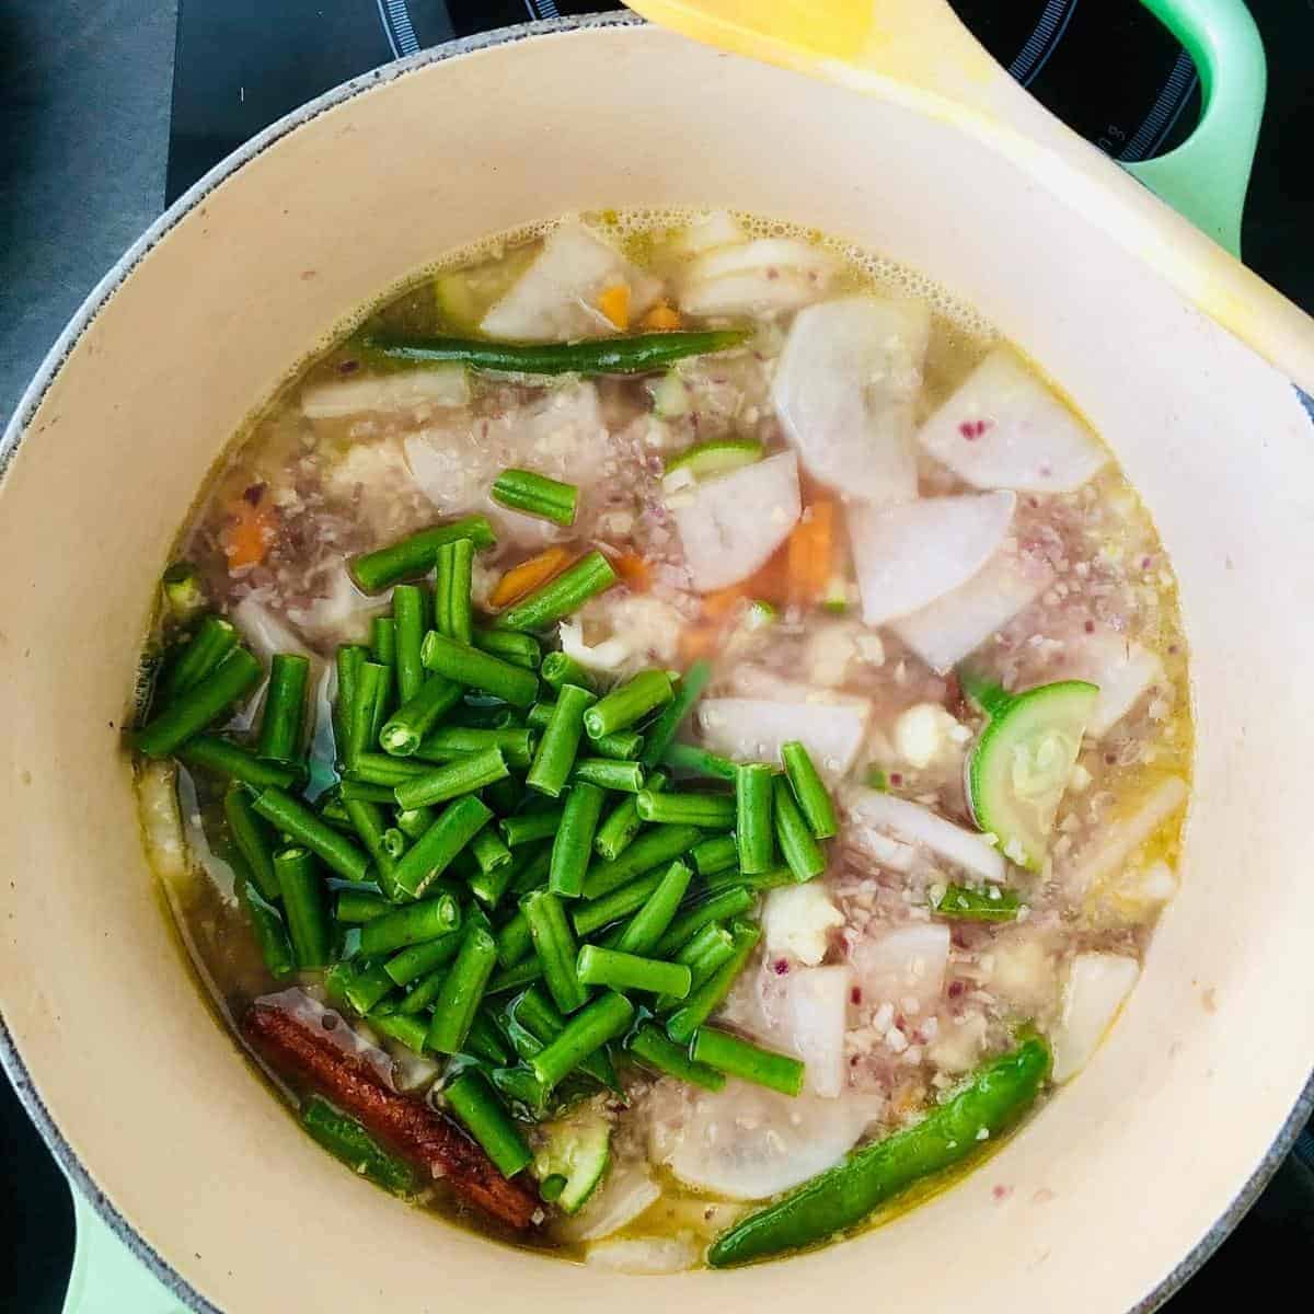
<instances>
[{"instance_id":1,"label":"long thin dark green chili lying horizontally near the soup's top edge","mask_svg":"<svg viewBox=\"0 0 1314 1314\"><path fill-rule=\"evenodd\" d=\"M631 338L585 338L581 342L511 343L484 338L368 334L360 340L359 350L369 360L406 365L451 361L472 369L516 374L646 374L687 356L729 351L748 336L746 328L699 328Z\"/></svg>"}]
</instances>

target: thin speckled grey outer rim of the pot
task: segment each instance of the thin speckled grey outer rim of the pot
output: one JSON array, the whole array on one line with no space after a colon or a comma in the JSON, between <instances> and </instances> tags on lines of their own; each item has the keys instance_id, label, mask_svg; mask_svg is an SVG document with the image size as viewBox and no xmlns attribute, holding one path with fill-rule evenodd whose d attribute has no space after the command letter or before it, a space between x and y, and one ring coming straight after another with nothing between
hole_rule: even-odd
<instances>
[{"instance_id":1,"label":"thin speckled grey outer rim of the pot","mask_svg":"<svg viewBox=\"0 0 1314 1314\"><path fill-rule=\"evenodd\" d=\"M110 300L110 297L113 297L137 265L141 264L147 255L150 255L162 238L164 238L187 214L196 209L196 206L200 205L210 192L213 192L229 177L238 173L246 164L250 164L267 147L275 145L288 133L302 126L304 124L310 122L310 120L317 118L326 110L346 104L374 87L403 78L415 70L427 68L430 64L443 63L460 55L511 45L532 37L553 35L556 33L565 32L587 32L603 28L633 28L641 26L643 24L644 20L637 14L623 11L616 13L547 18L537 22L524 22L509 28L498 28L493 32L478 33L472 37L463 37L456 41L430 47L428 50L422 50L414 55L406 57L405 59L382 64L367 74L361 74L359 78L342 83L340 85L323 92L321 96L317 96L314 100L309 100L304 105L297 106L290 113L276 120L263 131L250 138L233 151L231 155L219 160L218 164L204 173L196 183L192 184L192 187L177 197L177 200L173 201L173 204L170 205L159 215L159 218L156 218L124 252L124 255L105 273L100 283L97 283L96 286L88 293L87 300L75 311L72 318L68 321L68 325L55 339L55 343L41 361L32 382L24 389L22 396L18 398L18 405L14 407L13 415L5 426L4 434L0 436L0 482L3 482L9 463L13 460L20 445L22 444L28 426L35 415L37 409L41 406L46 392L54 382L55 376L63 368L63 364L68 359L74 347L96 319L101 307ZM1314 406L1310 406L1303 397L1301 399L1305 402L1306 409L1311 411L1311 419L1314 419ZM150 1272L164 1288L167 1288L189 1309L197 1311L197 1314L223 1314L217 1305L197 1292L196 1288L193 1288L192 1284L172 1267L168 1259L160 1255L159 1251L156 1251L155 1247L137 1231L137 1229L120 1213L117 1206L92 1177L85 1164L83 1164L79 1159L76 1150L74 1150L74 1147L64 1138L64 1134L60 1131L58 1123L37 1091L35 1083L33 1081L26 1063L18 1051L18 1046L5 1024L3 1010L0 1010L0 1068L4 1070L9 1083L18 1096L18 1102L22 1105L28 1117L37 1127L46 1148L63 1168L70 1184L81 1192L83 1197L91 1208L96 1210L105 1226L109 1227L118 1240L126 1246L127 1250L131 1251L131 1254L142 1264L145 1264L147 1269L150 1269ZM1222 1244L1226 1236L1242 1221L1250 1208L1259 1198L1269 1179L1290 1152L1301 1127L1311 1116L1314 1116L1314 1071L1311 1071L1303 1091L1297 1097L1290 1113L1279 1129L1277 1135L1269 1143L1267 1154L1254 1173L1251 1173L1250 1179L1236 1192L1231 1202L1219 1214L1218 1219L1209 1229L1209 1231L1187 1255L1181 1257L1181 1260L1163 1279L1163 1281L1159 1282L1158 1286L1155 1286L1141 1301L1131 1306L1130 1310L1127 1310L1127 1314L1150 1314L1150 1311L1156 1310L1169 1297L1176 1294L1176 1292L1180 1290L1180 1288L1200 1271L1205 1261Z\"/></svg>"}]
</instances>

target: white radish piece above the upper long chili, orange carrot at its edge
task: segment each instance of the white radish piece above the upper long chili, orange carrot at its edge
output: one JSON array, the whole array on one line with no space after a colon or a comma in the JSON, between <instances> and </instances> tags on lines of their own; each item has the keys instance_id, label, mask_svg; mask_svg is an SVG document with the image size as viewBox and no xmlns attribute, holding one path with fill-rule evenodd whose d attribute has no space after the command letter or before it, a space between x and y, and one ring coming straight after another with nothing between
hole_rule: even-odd
<instances>
[{"instance_id":1,"label":"white radish piece above the upper long chili, orange carrot at its edge","mask_svg":"<svg viewBox=\"0 0 1314 1314\"><path fill-rule=\"evenodd\" d=\"M624 284L629 313L641 315L657 300L661 284L631 264L614 246L579 223L548 234L535 261L480 322L490 338L518 342L569 342L614 334L615 325L597 309L598 294Z\"/></svg>"}]
</instances>

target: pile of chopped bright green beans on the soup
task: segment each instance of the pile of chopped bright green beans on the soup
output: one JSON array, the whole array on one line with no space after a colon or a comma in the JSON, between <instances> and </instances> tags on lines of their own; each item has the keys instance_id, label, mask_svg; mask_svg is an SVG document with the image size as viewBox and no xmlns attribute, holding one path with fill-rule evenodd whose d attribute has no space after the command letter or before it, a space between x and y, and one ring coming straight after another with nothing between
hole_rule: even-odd
<instances>
[{"instance_id":1,"label":"pile of chopped bright green beans on the soup","mask_svg":"<svg viewBox=\"0 0 1314 1314\"><path fill-rule=\"evenodd\" d=\"M531 472L493 495L574 515L576 490ZM511 1176L523 1125L623 1093L618 1063L802 1089L796 1059L707 1024L756 950L761 892L819 875L837 825L802 744L735 763L678 741L706 662L608 682L545 650L536 632L615 582L599 552L481 615L473 564L493 543L470 516L352 562L392 608L334 656L332 773L307 759L315 658L275 656L251 732L217 733L265 671L230 622L188 608L135 744L225 782L223 851L271 976L323 974L335 1007L445 1064L447 1108ZM405 1189L350 1120L315 1105L307 1125Z\"/></svg>"}]
</instances>

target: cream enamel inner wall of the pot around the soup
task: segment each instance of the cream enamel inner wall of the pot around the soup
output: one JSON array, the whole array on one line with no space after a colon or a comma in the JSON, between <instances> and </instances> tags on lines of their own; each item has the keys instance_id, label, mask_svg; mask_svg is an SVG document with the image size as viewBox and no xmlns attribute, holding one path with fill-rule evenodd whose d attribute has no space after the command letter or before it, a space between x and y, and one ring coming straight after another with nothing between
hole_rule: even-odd
<instances>
[{"instance_id":1,"label":"cream enamel inner wall of the pot around the soup","mask_svg":"<svg viewBox=\"0 0 1314 1314\"><path fill-rule=\"evenodd\" d=\"M1309 419L1039 167L951 114L625 22L528 35L418 57L271 129L97 289L16 417L0 489L7 1063L66 1167L197 1307L710 1314L871 1282L905 1310L1151 1301L1246 1198L1314 1062ZM481 234L678 202L802 221L924 269L1062 381L1175 560L1198 756L1181 894L1120 1026L1059 1099L879 1231L656 1279L447 1227L296 1131L189 979L120 733L177 524L310 344Z\"/></svg>"}]
</instances>

